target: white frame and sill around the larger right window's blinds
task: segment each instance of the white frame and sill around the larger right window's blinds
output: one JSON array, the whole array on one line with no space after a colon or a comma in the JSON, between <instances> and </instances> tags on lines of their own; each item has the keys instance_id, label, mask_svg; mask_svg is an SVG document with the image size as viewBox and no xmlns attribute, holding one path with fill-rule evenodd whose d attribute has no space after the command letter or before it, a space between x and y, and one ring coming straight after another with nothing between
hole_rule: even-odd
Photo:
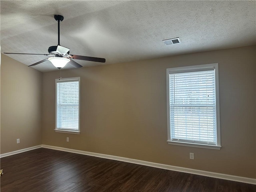
<instances>
[{"instance_id":1,"label":"white frame and sill around the larger right window's blinds","mask_svg":"<svg viewBox=\"0 0 256 192\"><path fill-rule=\"evenodd\" d=\"M189 71L199 71L204 68L214 68L215 72L215 105L216 105L216 145L208 145L201 143L190 143L190 142L181 142L177 140L172 140L171 130L170 130L170 80L169 74L175 72L189 72ZM218 63L214 64L203 64L196 66L185 66L185 67L176 67L166 69L166 86L167 86L167 124L168 124L168 144L180 145L180 146L189 146L197 148L208 148L208 149L217 149L220 150L220 104L219 104L219 78L218 78Z\"/></svg>"}]
</instances>

